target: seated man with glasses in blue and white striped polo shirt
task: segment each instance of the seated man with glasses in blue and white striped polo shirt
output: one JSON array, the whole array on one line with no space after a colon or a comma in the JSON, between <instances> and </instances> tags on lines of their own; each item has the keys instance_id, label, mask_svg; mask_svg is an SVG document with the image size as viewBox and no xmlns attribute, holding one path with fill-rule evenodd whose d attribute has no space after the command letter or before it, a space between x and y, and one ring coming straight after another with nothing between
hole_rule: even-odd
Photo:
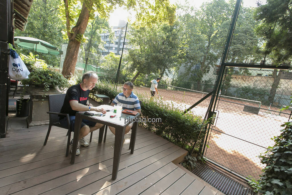
<instances>
[{"instance_id":1,"label":"seated man with glasses in blue and white striped polo shirt","mask_svg":"<svg viewBox=\"0 0 292 195\"><path fill-rule=\"evenodd\" d=\"M132 92L134 88L134 85L132 82L127 81L124 83L123 86L123 92L119 93L116 98L112 101L111 106L114 106L117 103L122 103L123 104L123 109L128 109L132 111L137 111L141 113L141 107L139 103L138 97ZM133 126L133 122L130 123L126 127L125 134L127 134L130 129ZM114 127L109 127L109 129L112 131L112 133L115 135L116 131ZM125 140L124 140L125 141Z\"/></svg>"}]
</instances>

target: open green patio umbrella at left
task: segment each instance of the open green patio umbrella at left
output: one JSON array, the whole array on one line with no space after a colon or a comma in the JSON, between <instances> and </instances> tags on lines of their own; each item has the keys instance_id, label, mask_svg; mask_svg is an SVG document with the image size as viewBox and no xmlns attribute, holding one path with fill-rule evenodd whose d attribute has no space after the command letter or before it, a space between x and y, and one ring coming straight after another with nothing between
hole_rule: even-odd
<instances>
[{"instance_id":1,"label":"open green patio umbrella at left","mask_svg":"<svg viewBox=\"0 0 292 195\"><path fill-rule=\"evenodd\" d=\"M63 51L40 39L32 37L14 37L14 44L25 49L34 50L45 54L61 55ZM35 54L36 55L36 54Z\"/></svg>"}]
</instances>

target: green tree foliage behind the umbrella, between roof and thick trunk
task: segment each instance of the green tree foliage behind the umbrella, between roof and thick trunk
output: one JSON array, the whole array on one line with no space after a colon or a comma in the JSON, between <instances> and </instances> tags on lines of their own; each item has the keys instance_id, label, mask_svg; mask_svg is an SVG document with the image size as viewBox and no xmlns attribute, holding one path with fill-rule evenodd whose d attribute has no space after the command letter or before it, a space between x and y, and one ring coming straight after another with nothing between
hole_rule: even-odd
<instances>
[{"instance_id":1,"label":"green tree foliage behind the umbrella, between roof and thick trunk","mask_svg":"<svg viewBox=\"0 0 292 195\"><path fill-rule=\"evenodd\" d=\"M64 43L63 32L65 20L60 15L62 0L34 1L29 11L28 22L25 31L15 30L14 36L33 37L44 40L58 48ZM28 54L27 49L19 49L18 53ZM34 51L32 51L34 53ZM58 66L60 56L38 53L39 58L50 66Z\"/></svg>"}]
</instances>

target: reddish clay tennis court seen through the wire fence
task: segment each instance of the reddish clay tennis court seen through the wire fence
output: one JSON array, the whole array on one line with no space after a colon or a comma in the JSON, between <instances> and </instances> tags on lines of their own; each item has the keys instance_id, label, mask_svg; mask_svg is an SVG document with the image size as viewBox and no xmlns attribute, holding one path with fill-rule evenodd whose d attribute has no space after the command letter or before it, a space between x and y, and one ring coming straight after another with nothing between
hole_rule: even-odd
<instances>
[{"instance_id":1,"label":"reddish clay tennis court seen through the wire fence","mask_svg":"<svg viewBox=\"0 0 292 195\"><path fill-rule=\"evenodd\" d=\"M189 108L207 93L158 89L163 101L175 103L181 111ZM135 94L149 96L150 88L134 87ZM157 94L155 98L158 99ZM204 118L210 98L191 111ZM260 107L258 114L243 111L244 105ZM204 156L245 177L259 178L263 165L258 156L273 146L270 139L280 134L281 124L288 121L291 111L279 113L279 108L260 102L221 96L217 102L217 120L211 128Z\"/></svg>"}]
</instances>

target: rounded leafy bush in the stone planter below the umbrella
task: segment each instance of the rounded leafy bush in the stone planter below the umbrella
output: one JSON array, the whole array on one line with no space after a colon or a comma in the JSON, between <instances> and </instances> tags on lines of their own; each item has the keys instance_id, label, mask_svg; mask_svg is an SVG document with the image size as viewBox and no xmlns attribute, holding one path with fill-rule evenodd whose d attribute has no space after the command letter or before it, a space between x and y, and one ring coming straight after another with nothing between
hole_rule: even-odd
<instances>
[{"instance_id":1,"label":"rounded leafy bush in the stone planter below the umbrella","mask_svg":"<svg viewBox=\"0 0 292 195\"><path fill-rule=\"evenodd\" d=\"M36 68L28 75L28 79L22 80L22 84L43 87L44 91L48 91L49 88L68 87L68 81L62 74L48 68Z\"/></svg>"}]
</instances>

